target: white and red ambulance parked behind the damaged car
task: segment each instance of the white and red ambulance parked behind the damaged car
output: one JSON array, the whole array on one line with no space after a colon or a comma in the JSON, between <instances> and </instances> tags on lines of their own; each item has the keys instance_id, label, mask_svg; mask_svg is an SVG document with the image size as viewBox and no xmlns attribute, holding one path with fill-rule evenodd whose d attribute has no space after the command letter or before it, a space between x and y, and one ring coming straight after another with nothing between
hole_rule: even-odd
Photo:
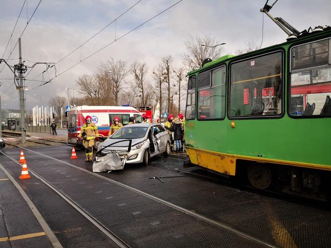
<instances>
[{"instance_id":1,"label":"white and red ambulance parked behind the damaged car","mask_svg":"<svg viewBox=\"0 0 331 248\"><path fill-rule=\"evenodd\" d=\"M95 142L95 148L98 148L100 142L103 142L109 133L110 125L114 117L120 118L120 123L126 125L130 117L136 117L137 122L142 122L142 114L132 107L118 106L76 106L68 113L68 143L72 145L83 145L83 141L78 141L77 135L85 123L85 117L90 116L92 123L98 127L100 140Z\"/></svg>"}]
</instances>

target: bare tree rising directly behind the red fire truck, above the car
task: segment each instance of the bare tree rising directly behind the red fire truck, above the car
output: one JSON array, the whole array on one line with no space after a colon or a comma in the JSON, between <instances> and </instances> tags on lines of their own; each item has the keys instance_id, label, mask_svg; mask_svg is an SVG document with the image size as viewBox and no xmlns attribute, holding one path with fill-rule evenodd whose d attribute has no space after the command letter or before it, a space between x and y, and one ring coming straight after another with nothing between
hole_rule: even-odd
<instances>
[{"instance_id":1,"label":"bare tree rising directly behind the red fire truck, above the car","mask_svg":"<svg viewBox=\"0 0 331 248\"><path fill-rule=\"evenodd\" d=\"M141 92L141 94L139 95L141 98L141 106L146 106L145 87L147 87L148 84L148 82L146 82L148 67L146 63L135 61L131 65L130 70L131 74L134 77L134 87L138 88Z\"/></svg>"}]
</instances>

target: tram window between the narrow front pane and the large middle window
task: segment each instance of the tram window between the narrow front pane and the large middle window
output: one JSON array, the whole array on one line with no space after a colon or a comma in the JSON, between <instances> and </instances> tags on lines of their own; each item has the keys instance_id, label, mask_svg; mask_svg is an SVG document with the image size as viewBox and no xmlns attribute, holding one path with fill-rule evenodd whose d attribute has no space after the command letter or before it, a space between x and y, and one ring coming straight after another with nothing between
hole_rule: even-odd
<instances>
[{"instance_id":1,"label":"tram window between the narrow front pane and the large middle window","mask_svg":"<svg viewBox=\"0 0 331 248\"><path fill-rule=\"evenodd\" d=\"M198 91L198 120L224 119L225 67L222 66L202 74L206 73L211 75L211 84L207 88L205 87Z\"/></svg>"}]
</instances>

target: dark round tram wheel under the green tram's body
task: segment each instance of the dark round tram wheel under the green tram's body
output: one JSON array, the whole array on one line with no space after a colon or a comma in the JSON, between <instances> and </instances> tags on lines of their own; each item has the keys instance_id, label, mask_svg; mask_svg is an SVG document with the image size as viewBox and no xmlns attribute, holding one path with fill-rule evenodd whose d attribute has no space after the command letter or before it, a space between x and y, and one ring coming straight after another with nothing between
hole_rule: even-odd
<instances>
[{"instance_id":1,"label":"dark round tram wheel under the green tram's body","mask_svg":"<svg viewBox=\"0 0 331 248\"><path fill-rule=\"evenodd\" d=\"M247 178L257 189L267 189L272 181L271 170L263 164L251 164L247 167Z\"/></svg>"}]
</instances>

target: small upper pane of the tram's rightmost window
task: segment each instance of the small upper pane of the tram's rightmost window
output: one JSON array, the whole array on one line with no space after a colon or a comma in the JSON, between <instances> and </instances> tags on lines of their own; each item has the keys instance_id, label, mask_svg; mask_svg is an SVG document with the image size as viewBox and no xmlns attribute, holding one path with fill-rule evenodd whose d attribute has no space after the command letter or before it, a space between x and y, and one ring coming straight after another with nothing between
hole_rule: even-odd
<instances>
[{"instance_id":1,"label":"small upper pane of the tram's rightmost window","mask_svg":"<svg viewBox=\"0 0 331 248\"><path fill-rule=\"evenodd\" d=\"M329 40L296 46L291 50L291 70L328 65Z\"/></svg>"}]
</instances>

